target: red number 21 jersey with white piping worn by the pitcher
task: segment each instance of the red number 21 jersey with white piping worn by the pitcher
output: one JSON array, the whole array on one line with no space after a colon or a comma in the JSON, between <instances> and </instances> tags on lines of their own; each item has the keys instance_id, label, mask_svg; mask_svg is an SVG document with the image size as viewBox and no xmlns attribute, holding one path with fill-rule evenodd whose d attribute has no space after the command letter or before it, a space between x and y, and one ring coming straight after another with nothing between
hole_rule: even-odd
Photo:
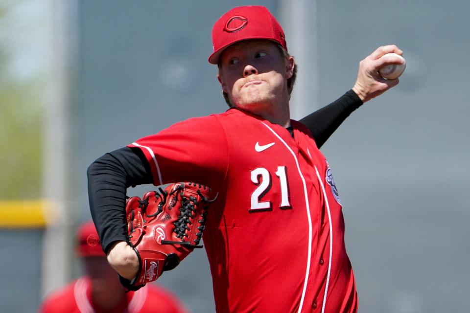
<instances>
[{"instance_id":1,"label":"red number 21 jersey with white piping worn by the pitcher","mask_svg":"<svg viewBox=\"0 0 470 313\"><path fill-rule=\"evenodd\" d=\"M308 129L247 112L191 118L141 138L156 185L195 181L219 193L204 244L217 312L356 312L344 220Z\"/></svg>"}]
</instances>

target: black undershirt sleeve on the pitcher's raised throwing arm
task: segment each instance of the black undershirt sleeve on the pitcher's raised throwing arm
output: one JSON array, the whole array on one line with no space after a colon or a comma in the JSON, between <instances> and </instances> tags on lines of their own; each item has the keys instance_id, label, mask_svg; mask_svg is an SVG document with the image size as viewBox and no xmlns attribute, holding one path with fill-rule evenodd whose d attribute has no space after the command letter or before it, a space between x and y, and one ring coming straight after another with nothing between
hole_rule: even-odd
<instances>
[{"instance_id":1,"label":"black undershirt sleeve on the pitcher's raised throwing arm","mask_svg":"<svg viewBox=\"0 0 470 313\"><path fill-rule=\"evenodd\" d=\"M362 104L362 100L351 89L336 101L305 116L300 122L312 132L320 149L339 125Z\"/></svg>"}]
</instances>

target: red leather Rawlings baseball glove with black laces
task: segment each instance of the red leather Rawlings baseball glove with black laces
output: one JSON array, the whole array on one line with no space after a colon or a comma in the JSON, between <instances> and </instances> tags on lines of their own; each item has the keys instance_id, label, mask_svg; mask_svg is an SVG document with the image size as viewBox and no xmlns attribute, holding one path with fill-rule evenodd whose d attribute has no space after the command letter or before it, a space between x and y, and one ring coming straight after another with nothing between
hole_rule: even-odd
<instances>
[{"instance_id":1,"label":"red leather Rawlings baseball glove with black laces","mask_svg":"<svg viewBox=\"0 0 470 313\"><path fill-rule=\"evenodd\" d=\"M185 182L127 199L128 243L134 247L140 269L133 281L121 283L136 291L175 268L199 242L204 231L211 188ZM216 197L215 197L216 198Z\"/></svg>"}]
</instances>

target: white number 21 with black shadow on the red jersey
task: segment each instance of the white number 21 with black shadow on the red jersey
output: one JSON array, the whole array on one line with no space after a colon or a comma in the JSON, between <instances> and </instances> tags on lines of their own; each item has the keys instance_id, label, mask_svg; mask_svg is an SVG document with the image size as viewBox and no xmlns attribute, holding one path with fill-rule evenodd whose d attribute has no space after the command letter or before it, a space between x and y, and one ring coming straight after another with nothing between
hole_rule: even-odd
<instances>
[{"instance_id":1,"label":"white number 21 with black shadow on the red jersey","mask_svg":"<svg viewBox=\"0 0 470 313\"><path fill-rule=\"evenodd\" d=\"M279 179L281 185L281 209L290 209L290 196L289 196L289 184L287 180L287 169L285 166L278 166L276 171L277 179ZM272 210L271 201L263 201L262 198L271 189L272 178L271 173L265 168L258 167L251 171L251 181L257 185L256 189L251 194L251 207L250 212L258 211L270 211Z\"/></svg>"}]
</instances>

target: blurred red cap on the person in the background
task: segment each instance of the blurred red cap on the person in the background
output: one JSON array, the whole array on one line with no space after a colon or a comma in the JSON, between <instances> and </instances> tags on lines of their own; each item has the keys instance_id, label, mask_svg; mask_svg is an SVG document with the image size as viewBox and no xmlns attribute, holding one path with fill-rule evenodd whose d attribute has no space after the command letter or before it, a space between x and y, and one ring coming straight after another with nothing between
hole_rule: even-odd
<instances>
[{"instance_id":1,"label":"blurred red cap on the person in the background","mask_svg":"<svg viewBox=\"0 0 470 313\"><path fill-rule=\"evenodd\" d=\"M98 232L92 221L82 224L76 234L77 244L75 250L79 257L106 256L101 249Z\"/></svg>"}]
</instances>

